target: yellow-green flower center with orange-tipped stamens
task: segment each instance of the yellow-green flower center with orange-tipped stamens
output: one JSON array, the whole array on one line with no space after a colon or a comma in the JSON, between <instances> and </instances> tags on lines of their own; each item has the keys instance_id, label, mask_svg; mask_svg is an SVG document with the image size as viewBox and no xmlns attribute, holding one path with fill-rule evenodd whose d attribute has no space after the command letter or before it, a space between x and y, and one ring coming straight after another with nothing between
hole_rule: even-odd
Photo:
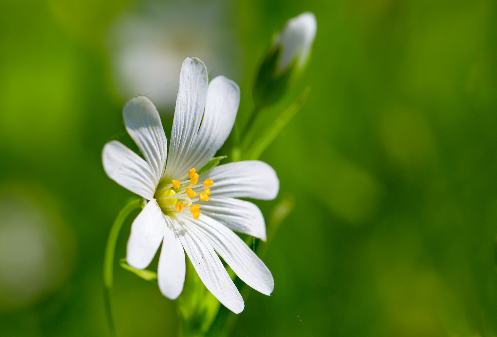
<instances>
[{"instance_id":1,"label":"yellow-green flower center with orange-tipped stamens","mask_svg":"<svg viewBox=\"0 0 497 337\"><path fill-rule=\"evenodd\" d=\"M190 179L183 181L171 179L170 184L157 188L154 198L156 198L164 214L169 215L170 212L181 212L188 209L194 219L198 219L200 216L200 204L198 202L209 200L209 195L211 194L209 186L212 186L214 181L207 178L203 183L199 184L198 173L195 172L195 169L190 169L188 176Z\"/></svg>"}]
</instances>

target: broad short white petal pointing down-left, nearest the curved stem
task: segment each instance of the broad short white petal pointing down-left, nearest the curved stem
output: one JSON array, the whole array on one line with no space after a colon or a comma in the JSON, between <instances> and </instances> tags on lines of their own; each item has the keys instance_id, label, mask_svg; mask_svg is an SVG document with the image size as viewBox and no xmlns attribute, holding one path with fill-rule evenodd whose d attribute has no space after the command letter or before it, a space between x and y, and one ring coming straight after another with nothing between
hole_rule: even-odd
<instances>
[{"instance_id":1,"label":"broad short white petal pointing down-left, nearest the curved stem","mask_svg":"<svg viewBox=\"0 0 497 337\"><path fill-rule=\"evenodd\" d=\"M157 201L150 200L131 225L126 261L136 269L146 268L164 238L166 221Z\"/></svg>"}]
</instances>

